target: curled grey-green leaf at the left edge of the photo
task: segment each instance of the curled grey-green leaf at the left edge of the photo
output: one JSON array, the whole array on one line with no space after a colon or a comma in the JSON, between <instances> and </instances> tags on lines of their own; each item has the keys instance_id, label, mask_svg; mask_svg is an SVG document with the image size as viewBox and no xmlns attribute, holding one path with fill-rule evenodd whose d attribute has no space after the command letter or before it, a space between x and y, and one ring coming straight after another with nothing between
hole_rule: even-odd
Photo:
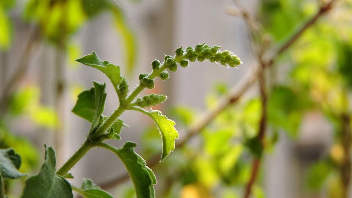
<instances>
[{"instance_id":1,"label":"curled grey-green leaf at the left edge of the photo","mask_svg":"<svg viewBox=\"0 0 352 198\"><path fill-rule=\"evenodd\" d=\"M20 173L21 157L13 148L0 149L0 173L4 179L18 179L26 174Z\"/></svg>"}]
</instances>

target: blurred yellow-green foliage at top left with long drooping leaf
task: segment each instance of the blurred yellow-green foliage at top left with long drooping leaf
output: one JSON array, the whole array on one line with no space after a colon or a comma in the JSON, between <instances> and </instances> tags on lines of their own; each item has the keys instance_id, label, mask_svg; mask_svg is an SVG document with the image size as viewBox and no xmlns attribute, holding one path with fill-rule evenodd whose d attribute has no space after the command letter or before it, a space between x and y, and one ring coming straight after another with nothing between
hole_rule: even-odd
<instances>
[{"instance_id":1,"label":"blurred yellow-green foliage at top left with long drooping leaf","mask_svg":"<svg viewBox=\"0 0 352 198\"><path fill-rule=\"evenodd\" d=\"M29 0L24 18L38 23L43 35L50 42L66 46L69 38L85 23L95 20L104 12L112 14L116 29L124 42L127 72L131 74L136 63L133 58L137 48L136 38L117 3L108 0ZM68 50L72 52L72 48Z\"/></svg>"}]
</instances>

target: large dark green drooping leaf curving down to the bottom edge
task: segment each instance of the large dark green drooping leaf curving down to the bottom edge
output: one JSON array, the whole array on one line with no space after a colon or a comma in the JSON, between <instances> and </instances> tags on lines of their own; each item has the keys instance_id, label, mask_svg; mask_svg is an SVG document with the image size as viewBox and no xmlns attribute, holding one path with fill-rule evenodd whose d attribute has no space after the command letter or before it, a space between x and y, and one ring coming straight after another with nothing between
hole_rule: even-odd
<instances>
[{"instance_id":1,"label":"large dark green drooping leaf curving down to the bottom edge","mask_svg":"<svg viewBox=\"0 0 352 198\"><path fill-rule=\"evenodd\" d=\"M134 142L126 142L120 148L114 148L105 143L96 143L96 146L113 151L124 163L130 174L137 198L155 198L154 186L157 181L152 170L146 166L145 160L134 151L137 146Z\"/></svg>"}]
</instances>

